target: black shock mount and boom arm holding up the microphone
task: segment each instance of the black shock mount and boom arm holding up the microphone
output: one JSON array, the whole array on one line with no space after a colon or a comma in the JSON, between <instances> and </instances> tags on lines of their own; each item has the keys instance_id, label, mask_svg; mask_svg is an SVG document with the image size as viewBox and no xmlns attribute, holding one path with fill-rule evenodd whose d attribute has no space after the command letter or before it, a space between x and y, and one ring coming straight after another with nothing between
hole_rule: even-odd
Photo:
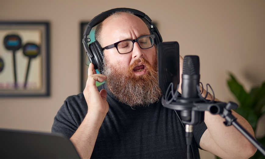
<instances>
[{"instance_id":1,"label":"black shock mount and boom arm holding up the microphone","mask_svg":"<svg viewBox=\"0 0 265 159\"><path fill-rule=\"evenodd\" d=\"M194 100L190 99L190 101L193 102L187 102L186 100L182 99L181 97L178 97L178 100L172 101L170 103L167 103L162 98L161 102L162 105L166 108L173 109L173 110L188 110L191 111L191 120L190 121L184 121L182 120L182 123L185 123L187 125L196 125L201 123L204 120L204 111L209 111L210 113L216 115L219 114L221 117L225 119L224 125L230 126L233 125L241 134L243 134L264 156L265 156L265 149L263 145L261 145L254 137L252 137L246 129L244 129L237 121L236 118L231 114L231 109L237 109L238 105L234 102L210 102L205 103L200 101L199 98L196 98ZM190 126L187 126L190 129ZM187 133L187 127L186 127L186 133ZM192 129L192 127L191 127ZM192 132L192 131L191 131ZM187 136L187 134L186 134ZM187 138L187 137L186 137ZM188 144L188 141L186 141ZM187 152L188 153L188 152ZM189 156L187 156L189 158Z\"/></svg>"}]
</instances>

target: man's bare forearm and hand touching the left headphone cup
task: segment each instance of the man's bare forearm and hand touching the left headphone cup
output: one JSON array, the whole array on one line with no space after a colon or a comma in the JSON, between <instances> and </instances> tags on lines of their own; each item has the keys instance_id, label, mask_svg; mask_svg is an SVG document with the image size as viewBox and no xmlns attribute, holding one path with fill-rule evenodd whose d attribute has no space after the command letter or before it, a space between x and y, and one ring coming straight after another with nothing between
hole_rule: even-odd
<instances>
[{"instance_id":1,"label":"man's bare forearm and hand touching the left headphone cup","mask_svg":"<svg viewBox=\"0 0 265 159\"><path fill-rule=\"evenodd\" d=\"M103 82L106 76L96 74L94 65L90 63L88 78L83 91L87 101L88 111L81 125L70 138L81 158L90 158L101 124L108 112L107 92L98 92L96 81Z\"/></svg>"}]
</instances>

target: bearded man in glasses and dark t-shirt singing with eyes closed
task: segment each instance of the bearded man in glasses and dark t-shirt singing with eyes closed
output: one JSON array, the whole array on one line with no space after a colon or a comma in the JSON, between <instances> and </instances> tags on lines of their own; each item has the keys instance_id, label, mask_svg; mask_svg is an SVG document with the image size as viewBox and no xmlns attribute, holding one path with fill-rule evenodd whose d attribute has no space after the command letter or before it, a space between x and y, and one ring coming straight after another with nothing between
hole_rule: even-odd
<instances>
[{"instance_id":1,"label":"bearded man in glasses and dark t-shirt singing with eyes closed","mask_svg":"<svg viewBox=\"0 0 265 159\"><path fill-rule=\"evenodd\" d=\"M85 90L65 100L52 132L67 135L82 158L186 158L185 130L175 111L161 104L157 48L146 24L132 13L114 13L97 28L96 40L104 51L104 75L90 63ZM116 47L108 47L112 44ZM104 80L97 88L96 81ZM254 136L249 123L233 115ZM194 126L194 158L200 157L198 148L221 158L249 158L256 152L223 121L205 112L204 122Z\"/></svg>"}]
</instances>

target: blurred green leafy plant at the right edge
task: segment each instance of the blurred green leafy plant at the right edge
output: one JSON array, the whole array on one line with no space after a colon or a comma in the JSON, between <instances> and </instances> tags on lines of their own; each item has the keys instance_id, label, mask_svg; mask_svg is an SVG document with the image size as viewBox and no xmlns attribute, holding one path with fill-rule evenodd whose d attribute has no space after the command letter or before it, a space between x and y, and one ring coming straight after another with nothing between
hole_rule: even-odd
<instances>
[{"instance_id":1,"label":"blurred green leafy plant at the right edge","mask_svg":"<svg viewBox=\"0 0 265 159\"><path fill-rule=\"evenodd\" d=\"M265 82L259 87L253 87L248 93L232 73L229 73L229 76L228 87L239 102L239 107L235 111L244 117L256 132L257 122L265 114ZM265 145L265 135L256 139L260 144ZM264 158L264 156L257 151L251 158Z\"/></svg>"}]
</instances>

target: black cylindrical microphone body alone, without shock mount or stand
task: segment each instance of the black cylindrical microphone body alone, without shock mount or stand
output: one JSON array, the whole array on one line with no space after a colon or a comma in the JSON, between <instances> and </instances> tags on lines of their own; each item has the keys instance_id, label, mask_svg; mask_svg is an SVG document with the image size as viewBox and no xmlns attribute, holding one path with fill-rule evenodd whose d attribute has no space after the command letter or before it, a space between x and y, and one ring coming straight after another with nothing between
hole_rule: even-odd
<instances>
[{"instance_id":1,"label":"black cylindrical microphone body alone, without shock mount or stand","mask_svg":"<svg viewBox=\"0 0 265 159\"><path fill-rule=\"evenodd\" d=\"M185 56L183 60L182 72L182 101L194 102L199 99L197 85L200 84L200 59L199 56ZM181 118L184 121L191 120L191 111L182 110Z\"/></svg>"}]
</instances>

